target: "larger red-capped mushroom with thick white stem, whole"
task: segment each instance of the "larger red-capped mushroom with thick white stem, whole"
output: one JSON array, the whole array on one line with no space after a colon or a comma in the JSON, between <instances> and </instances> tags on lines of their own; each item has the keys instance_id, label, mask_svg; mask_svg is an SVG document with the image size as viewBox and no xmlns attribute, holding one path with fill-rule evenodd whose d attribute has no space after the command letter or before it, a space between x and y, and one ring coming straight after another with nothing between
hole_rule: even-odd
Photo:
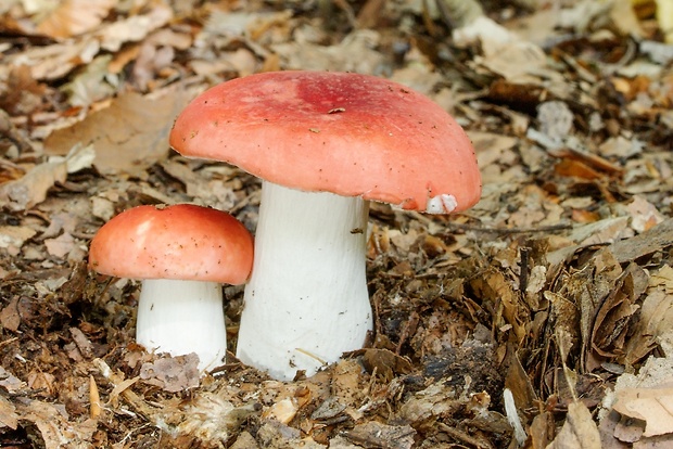
<instances>
[{"instance_id":1,"label":"larger red-capped mushroom with thick white stem, whole","mask_svg":"<svg viewBox=\"0 0 673 449\"><path fill-rule=\"evenodd\" d=\"M224 82L182 111L170 144L264 180L237 356L278 380L312 375L372 330L368 201L446 214L481 194L462 128L422 94L367 75Z\"/></svg>"}]
</instances>

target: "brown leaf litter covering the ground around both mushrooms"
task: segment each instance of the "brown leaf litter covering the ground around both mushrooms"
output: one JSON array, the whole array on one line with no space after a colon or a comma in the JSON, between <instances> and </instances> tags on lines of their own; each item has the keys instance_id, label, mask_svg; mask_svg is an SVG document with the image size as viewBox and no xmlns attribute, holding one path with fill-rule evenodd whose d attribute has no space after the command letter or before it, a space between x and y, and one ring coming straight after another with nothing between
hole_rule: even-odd
<instances>
[{"instance_id":1,"label":"brown leaf litter covering the ground around both mushrooms","mask_svg":"<svg viewBox=\"0 0 673 449\"><path fill-rule=\"evenodd\" d=\"M673 440L671 2L0 7L0 440L14 447L649 447ZM259 183L168 149L217 82L390 77L477 147L481 202L372 204L371 343L310 379L135 344L138 284L86 269L140 204L232 211ZM226 287L234 352L241 287Z\"/></svg>"}]
</instances>

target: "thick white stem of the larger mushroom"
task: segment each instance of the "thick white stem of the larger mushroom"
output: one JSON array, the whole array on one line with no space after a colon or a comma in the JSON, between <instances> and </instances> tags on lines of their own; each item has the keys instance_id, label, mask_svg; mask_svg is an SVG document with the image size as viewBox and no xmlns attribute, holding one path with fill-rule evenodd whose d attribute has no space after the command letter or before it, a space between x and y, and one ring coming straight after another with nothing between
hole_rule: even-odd
<instances>
[{"instance_id":1,"label":"thick white stem of the larger mushroom","mask_svg":"<svg viewBox=\"0 0 673 449\"><path fill-rule=\"evenodd\" d=\"M313 375L372 329L368 202L264 182L237 357L278 380Z\"/></svg>"}]
</instances>

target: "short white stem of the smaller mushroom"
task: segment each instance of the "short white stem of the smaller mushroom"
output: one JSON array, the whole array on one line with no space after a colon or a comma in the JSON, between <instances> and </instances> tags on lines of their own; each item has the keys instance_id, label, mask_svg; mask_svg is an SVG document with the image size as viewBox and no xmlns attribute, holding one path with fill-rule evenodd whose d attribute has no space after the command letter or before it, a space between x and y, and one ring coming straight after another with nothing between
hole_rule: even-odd
<instances>
[{"instance_id":1,"label":"short white stem of the smaller mushroom","mask_svg":"<svg viewBox=\"0 0 673 449\"><path fill-rule=\"evenodd\" d=\"M142 281L136 341L150 351L199 356L199 371L224 364L227 330L216 282Z\"/></svg>"}]
</instances>

